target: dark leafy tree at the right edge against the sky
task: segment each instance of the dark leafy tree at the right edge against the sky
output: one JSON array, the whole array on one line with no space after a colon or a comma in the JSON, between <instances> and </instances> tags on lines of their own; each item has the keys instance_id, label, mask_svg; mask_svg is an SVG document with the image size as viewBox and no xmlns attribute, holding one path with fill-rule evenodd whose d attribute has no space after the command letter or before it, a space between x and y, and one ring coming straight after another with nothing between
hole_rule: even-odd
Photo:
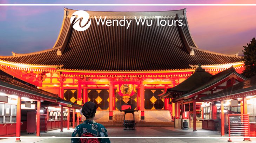
<instances>
[{"instance_id":1,"label":"dark leafy tree at the right edge against the sky","mask_svg":"<svg viewBox=\"0 0 256 143\"><path fill-rule=\"evenodd\" d=\"M244 47L244 71L242 75L250 78L256 75L256 39L252 38L251 43Z\"/></svg>"}]
</instances>

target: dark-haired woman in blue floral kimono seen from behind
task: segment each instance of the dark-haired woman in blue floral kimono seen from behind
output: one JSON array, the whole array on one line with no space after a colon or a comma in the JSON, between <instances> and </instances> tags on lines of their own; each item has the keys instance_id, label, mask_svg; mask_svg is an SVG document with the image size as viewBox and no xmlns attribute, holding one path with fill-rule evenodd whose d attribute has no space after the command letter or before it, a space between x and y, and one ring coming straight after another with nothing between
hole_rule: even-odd
<instances>
[{"instance_id":1,"label":"dark-haired woman in blue floral kimono seen from behind","mask_svg":"<svg viewBox=\"0 0 256 143\"><path fill-rule=\"evenodd\" d=\"M108 137L107 129L93 119L96 113L96 105L89 101L83 104L81 113L86 120L78 125L72 137ZM71 143L110 143L109 138L72 138Z\"/></svg>"}]
</instances>

